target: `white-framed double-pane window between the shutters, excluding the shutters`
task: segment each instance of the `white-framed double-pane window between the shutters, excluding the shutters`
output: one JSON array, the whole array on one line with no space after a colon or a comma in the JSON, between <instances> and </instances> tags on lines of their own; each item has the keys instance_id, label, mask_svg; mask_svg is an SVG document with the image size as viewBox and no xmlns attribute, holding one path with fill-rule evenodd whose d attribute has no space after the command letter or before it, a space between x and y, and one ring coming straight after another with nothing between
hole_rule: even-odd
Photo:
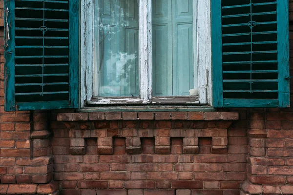
<instances>
[{"instance_id":1,"label":"white-framed double-pane window between the shutters, excluding the shutters","mask_svg":"<svg viewBox=\"0 0 293 195\"><path fill-rule=\"evenodd\" d=\"M94 2L82 17L82 42L93 42L82 45L82 103L208 103L209 2Z\"/></svg>"}]
</instances>

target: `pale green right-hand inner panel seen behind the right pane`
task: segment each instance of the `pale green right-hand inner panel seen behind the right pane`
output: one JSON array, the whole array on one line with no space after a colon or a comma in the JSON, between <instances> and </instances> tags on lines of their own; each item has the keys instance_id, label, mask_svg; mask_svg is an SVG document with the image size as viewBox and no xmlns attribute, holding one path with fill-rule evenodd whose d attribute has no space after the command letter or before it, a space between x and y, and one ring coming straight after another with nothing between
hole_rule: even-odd
<instances>
[{"instance_id":1,"label":"pale green right-hand inner panel seen behind the right pane","mask_svg":"<svg viewBox=\"0 0 293 195\"><path fill-rule=\"evenodd\" d=\"M193 83L193 0L172 0L173 94L189 96Z\"/></svg>"}]
</instances>

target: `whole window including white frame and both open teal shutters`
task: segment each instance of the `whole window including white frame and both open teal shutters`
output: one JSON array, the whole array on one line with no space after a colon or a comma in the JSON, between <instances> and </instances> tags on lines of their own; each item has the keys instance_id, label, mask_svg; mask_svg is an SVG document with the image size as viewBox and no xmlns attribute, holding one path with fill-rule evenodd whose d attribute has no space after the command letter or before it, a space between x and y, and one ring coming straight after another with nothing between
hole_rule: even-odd
<instances>
[{"instance_id":1,"label":"whole window including white frame and both open teal shutters","mask_svg":"<svg viewBox=\"0 0 293 195\"><path fill-rule=\"evenodd\" d=\"M4 0L4 110L289 107L288 14L289 0Z\"/></svg>"}]
</instances>

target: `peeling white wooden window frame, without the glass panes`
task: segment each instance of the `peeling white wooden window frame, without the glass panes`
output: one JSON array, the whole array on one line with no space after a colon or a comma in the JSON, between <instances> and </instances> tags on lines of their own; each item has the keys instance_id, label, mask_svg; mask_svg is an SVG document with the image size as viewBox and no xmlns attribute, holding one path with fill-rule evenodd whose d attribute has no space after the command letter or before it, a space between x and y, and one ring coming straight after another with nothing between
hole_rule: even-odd
<instances>
[{"instance_id":1,"label":"peeling white wooden window frame, without the glass panes","mask_svg":"<svg viewBox=\"0 0 293 195\"><path fill-rule=\"evenodd\" d=\"M94 97L94 0L81 0L81 86L80 107L105 104L212 104L210 1L195 1L194 65L197 68L198 96L152 97L151 0L139 0L140 97ZM150 33L147 33L150 32ZM200 48L200 49L199 49Z\"/></svg>"}]
</instances>

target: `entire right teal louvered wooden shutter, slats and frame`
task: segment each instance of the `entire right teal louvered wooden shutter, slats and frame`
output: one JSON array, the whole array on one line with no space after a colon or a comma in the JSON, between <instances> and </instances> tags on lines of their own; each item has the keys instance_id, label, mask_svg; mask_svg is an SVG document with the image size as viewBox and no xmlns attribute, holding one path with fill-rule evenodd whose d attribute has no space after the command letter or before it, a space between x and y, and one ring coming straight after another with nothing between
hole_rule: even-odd
<instances>
[{"instance_id":1,"label":"entire right teal louvered wooden shutter, slats and frame","mask_svg":"<svg viewBox=\"0 0 293 195\"><path fill-rule=\"evenodd\" d=\"M214 107L289 107L289 0L212 0Z\"/></svg>"}]
</instances>

